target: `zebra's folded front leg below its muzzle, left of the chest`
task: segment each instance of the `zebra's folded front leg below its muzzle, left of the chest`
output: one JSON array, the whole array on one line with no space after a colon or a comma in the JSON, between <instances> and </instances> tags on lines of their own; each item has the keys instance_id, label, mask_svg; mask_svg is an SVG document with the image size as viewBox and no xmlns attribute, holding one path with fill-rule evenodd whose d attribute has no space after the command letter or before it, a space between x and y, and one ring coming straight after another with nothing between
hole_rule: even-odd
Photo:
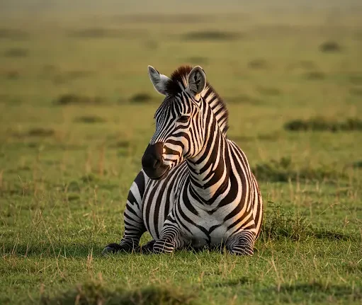
<instances>
[{"instance_id":1,"label":"zebra's folded front leg below its muzzle, left of the chest","mask_svg":"<svg viewBox=\"0 0 362 305\"><path fill-rule=\"evenodd\" d=\"M159 240L153 245L154 253L172 253L176 249L181 249L188 243L181 234L181 230L176 223L165 221Z\"/></svg>"}]
</instances>

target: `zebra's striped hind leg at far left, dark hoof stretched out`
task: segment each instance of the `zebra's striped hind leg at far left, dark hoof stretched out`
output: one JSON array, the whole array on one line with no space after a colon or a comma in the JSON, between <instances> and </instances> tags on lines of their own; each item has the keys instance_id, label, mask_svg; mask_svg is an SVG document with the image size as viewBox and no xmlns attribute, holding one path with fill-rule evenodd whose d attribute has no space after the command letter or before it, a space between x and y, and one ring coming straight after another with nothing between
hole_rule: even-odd
<instances>
[{"instance_id":1,"label":"zebra's striped hind leg at far left, dark hoof stretched out","mask_svg":"<svg viewBox=\"0 0 362 305\"><path fill-rule=\"evenodd\" d=\"M103 249L103 255L120 251L132 252L138 247L140 238L146 231L142 218L142 197L148 179L145 173L140 171L132 183L124 212L125 233L123 238L120 243L109 243Z\"/></svg>"}]
</instances>

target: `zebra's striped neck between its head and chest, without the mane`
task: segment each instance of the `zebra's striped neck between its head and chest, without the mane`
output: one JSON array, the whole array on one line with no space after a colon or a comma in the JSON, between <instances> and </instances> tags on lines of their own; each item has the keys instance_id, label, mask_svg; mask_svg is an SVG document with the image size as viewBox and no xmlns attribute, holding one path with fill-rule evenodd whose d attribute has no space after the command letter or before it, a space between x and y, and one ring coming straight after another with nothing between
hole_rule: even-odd
<instances>
[{"instance_id":1,"label":"zebra's striped neck between its head and chest, without the mane","mask_svg":"<svg viewBox=\"0 0 362 305\"><path fill-rule=\"evenodd\" d=\"M229 185L230 160L227 139L214 119L210 122L205 145L200 153L186 159L191 192L204 205L225 197ZM220 197L221 196L221 197Z\"/></svg>"}]
</instances>

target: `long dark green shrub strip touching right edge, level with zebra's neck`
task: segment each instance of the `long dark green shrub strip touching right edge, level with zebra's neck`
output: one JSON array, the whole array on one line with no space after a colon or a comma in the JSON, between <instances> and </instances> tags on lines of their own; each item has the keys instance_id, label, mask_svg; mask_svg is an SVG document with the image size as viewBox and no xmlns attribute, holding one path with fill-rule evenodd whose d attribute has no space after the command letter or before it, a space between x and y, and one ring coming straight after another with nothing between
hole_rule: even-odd
<instances>
[{"instance_id":1,"label":"long dark green shrub strip touching right edge, level with zebra's neck","mask_svg":"<svg viewBox=\"0 0 362 305\"><path fill-rule=\"evenodd\" d=\"M327 120L324 117L314 117L309 120L292 120L286 122L284 125L285 130L289 131L318 131L318 132L350 132L361 131L362 120L358 118L348 118L344 122Z\"/></svg>"}]
</instances>

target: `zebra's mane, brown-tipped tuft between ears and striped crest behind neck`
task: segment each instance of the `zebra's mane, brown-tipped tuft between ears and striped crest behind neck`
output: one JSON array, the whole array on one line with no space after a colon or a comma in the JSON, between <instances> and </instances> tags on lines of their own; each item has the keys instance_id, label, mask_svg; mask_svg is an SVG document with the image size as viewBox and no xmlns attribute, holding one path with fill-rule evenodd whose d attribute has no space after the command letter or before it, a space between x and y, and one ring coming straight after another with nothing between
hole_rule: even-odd
<instances>
[{"instance_id":1,"label":"zebra's mane, brown-tipped tuft between ears and striped crest behind neck","mask_svg":"<svg viewBox=\"0 0 362 305\"><path fill-rule=\"evenodd\" d=\"M166 83L166 93L171 96L176 96L185 90L188 86L187 79L191 70L192 67L190 66L181 66L176 69L171 74L170 81ZM210 105L221 132L226 136L229 125L227 123L228 112L225 102L208 82L203 92L201 92L201 96Z\"/></svg>"}]
</instances>

